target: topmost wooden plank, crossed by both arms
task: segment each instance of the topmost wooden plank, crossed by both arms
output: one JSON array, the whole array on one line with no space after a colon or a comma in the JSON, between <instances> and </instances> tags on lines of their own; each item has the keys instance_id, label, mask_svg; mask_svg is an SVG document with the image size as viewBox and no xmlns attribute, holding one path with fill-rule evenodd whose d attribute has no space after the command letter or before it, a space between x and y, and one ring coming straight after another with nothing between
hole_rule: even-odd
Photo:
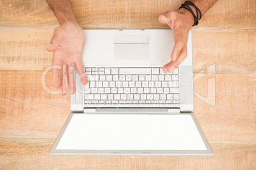
<instances>
[{"instance_id":1,"label":"topmost wooden plank, crossed by both arms","mask_svg":"<svg viewBox=\"0 0 256 170\"><path fill-rule=\"evenodd\" d=\"M181 0L100 1L71 0L78 23L84 29L167 28L157 17L178 10ZM58 22L46 1L1 1L0 26L55 27ZM201 19L199 28L255 29L255 1L219 0Z\"/></svg>"}]
</instances>

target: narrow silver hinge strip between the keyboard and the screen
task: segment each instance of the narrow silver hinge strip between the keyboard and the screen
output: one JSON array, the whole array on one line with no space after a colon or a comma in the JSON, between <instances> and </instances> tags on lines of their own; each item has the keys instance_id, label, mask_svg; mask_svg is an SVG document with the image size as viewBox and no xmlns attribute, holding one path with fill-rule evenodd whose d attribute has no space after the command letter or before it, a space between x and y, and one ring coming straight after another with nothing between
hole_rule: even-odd
<instances>
[{"instance_id":1,"label":"narrow silver hinge strip between the keyboard and the screen","mask_svg":"<svg viewBox=\"0 0 256 170\"><path fill-rule=\"evenodd\" d=\"M110 112L122 112L122 113L129 113L129 112L142 112L142 113L167 113L167 114L177 114L180 113L180 108L83 108L83 113L110 113Z\"/></svg>"}]
</instances>

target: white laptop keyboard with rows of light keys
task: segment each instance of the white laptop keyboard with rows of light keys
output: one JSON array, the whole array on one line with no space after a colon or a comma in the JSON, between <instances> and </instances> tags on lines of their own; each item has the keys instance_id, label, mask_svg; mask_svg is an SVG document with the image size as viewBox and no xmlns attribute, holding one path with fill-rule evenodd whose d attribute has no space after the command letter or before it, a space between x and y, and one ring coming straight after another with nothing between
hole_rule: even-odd
<instances>
[{"instance_id":1,"label":"white laptop keyboard with rows of light keys","mask_svg":"<svg viewBox=\"0 0 256 170\"><path fill-rule=\"evenodd\" d=\"M174 107L180 104L179 68L87 67L85 108Z\"/></svg>"}]
</instances>

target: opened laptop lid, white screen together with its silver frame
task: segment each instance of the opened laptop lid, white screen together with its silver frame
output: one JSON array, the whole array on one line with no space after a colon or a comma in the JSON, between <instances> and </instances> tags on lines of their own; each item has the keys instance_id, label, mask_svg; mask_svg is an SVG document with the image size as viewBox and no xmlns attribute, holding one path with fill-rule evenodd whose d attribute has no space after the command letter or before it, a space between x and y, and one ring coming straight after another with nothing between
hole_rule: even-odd
<instances>
[{"instance_id":1,"label":"opened laptop lid, white screen together with its silver frame","mask_svg":"<svg viewBox=\"0 0 256 170\"><path fill-rule=\"evenodd\" d=\"M212 155L193 113L73 113L50 154Z\"/></svg>"}]
</instances>

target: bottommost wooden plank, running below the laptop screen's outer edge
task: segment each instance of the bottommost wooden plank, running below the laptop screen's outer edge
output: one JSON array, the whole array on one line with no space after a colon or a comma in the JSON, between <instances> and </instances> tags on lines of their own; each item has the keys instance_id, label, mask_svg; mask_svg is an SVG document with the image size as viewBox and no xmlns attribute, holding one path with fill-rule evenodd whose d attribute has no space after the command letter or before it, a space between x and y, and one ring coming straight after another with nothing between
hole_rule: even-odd
<instances>
[{"instance_id":1,"label":"bottommost wooden plank, running below the laptop screen's outer edge","mask_svg":"<svg viewBox=\"0 0 256 170\"><path fill-rule=\"evenodd\" d=\"M2 169L255 169L255 143L211 143L213 156L49 155L53 140L0 138Z\"/></svg>"}]
</instances>

